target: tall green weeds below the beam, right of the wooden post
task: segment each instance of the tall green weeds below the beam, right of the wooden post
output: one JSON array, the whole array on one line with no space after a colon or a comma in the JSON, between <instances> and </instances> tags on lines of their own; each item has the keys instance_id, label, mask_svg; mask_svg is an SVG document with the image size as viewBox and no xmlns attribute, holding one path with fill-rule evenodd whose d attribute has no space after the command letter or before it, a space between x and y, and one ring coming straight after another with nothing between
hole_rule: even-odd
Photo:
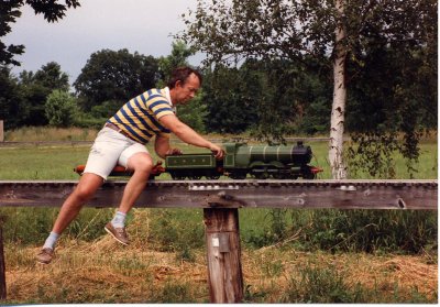
<instances>
[{"instance_id":1,"label":"tall green weeds below the beam, right of the wooden post","mask_svg":"<svg viewBox=\"0 0 440 307\"><path fill-rule=\"evenodd\" d=\"M250 248L437 255L437 215L422 210L271 209L242 233Z\"/></svg>"}]
</instances>

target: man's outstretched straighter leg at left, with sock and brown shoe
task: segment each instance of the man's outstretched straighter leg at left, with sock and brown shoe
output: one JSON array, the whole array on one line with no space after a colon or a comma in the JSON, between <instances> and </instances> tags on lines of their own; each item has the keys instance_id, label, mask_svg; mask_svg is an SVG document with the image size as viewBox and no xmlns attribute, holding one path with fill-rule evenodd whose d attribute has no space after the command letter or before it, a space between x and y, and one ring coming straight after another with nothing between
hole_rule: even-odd
<instances>
[{"instance_id":1,"label":"man's outstretched straighter leg at left, with sock and brown shoe","mask_svg":"<svg viewBox=\"0 0 440 307\"><path fill-rule=\"evenodd\" d=\"M55 244L59 235L78 216L79 210L94 196L96 190L102 185L102 182L101 176L92 173L86 173L81 176L75 190L64 201L52 232L46 239L42 251L36 256L38 262L47 264L52 261Z\"/></svg>"}]
</instances>

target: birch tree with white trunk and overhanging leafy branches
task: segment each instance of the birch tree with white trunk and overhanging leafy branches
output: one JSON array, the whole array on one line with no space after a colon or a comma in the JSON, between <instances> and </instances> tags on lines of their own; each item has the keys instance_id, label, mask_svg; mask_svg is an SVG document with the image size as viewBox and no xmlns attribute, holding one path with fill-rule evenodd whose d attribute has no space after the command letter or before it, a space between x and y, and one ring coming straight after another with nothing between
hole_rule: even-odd
<instances>
[{"instance_id":1,"label":"birch tree with white trunk and overhanging leafy branches","mask_svg":"<svg viewBox=\"0 0 440 307\"><path fill-rule=\"evenodd\" d=\"M207 54L206 64L237 65L244 58L301 63L304 55L326 62L331 57L334 89L329 160L334 178L345 176L345 88L358 74L348 76L349 65L363 62L366 45L415 51L437 41L436 0L199 0L197 9L183 18L188 28L180 36ZM437 57L437 51L431 55Z\"/></svg>"}]
</instances>

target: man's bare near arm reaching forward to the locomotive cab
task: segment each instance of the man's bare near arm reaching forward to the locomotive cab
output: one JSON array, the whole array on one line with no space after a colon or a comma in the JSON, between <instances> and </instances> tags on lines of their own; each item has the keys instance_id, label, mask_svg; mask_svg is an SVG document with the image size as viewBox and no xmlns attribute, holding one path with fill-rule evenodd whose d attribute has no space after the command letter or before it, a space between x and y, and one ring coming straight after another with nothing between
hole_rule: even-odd
<instances>
[{"instance_id":1,"label":"man's bare near arm reaching forward to the locomotive cab","mask_svg":"<svg viewBox=\"0 0 440 307\"><path fill-rule=\"evenodd\" d=\"M205 147L212 151L217 158L222 158L224 155L223 150L208 140L205 140L201 135L199 135L196 131L194 131L190 127L183 123L176 116L167 114L162 117L158 120L165 128L170 130L177 138L179 138L185 143ZM169 145L168 145L169 146Z\"/></svg>"}]
</instances>

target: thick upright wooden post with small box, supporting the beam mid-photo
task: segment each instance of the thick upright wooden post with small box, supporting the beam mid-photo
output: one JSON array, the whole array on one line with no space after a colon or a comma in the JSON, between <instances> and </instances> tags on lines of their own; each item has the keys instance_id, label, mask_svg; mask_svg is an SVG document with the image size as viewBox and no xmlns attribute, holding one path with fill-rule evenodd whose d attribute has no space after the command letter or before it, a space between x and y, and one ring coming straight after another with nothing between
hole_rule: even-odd
<instances>
[{"instance_id":1,"label":"thick upright wooden post with small box, supporting the beam mid-photo","mask_svg":"<svg viewBox=\"0 0 440 307\"><path fill-rule=\"evenodd\" d=\"M211 303L241 303L243 276L238 209L204 209Z\"/></svg>"}]
</instances>

